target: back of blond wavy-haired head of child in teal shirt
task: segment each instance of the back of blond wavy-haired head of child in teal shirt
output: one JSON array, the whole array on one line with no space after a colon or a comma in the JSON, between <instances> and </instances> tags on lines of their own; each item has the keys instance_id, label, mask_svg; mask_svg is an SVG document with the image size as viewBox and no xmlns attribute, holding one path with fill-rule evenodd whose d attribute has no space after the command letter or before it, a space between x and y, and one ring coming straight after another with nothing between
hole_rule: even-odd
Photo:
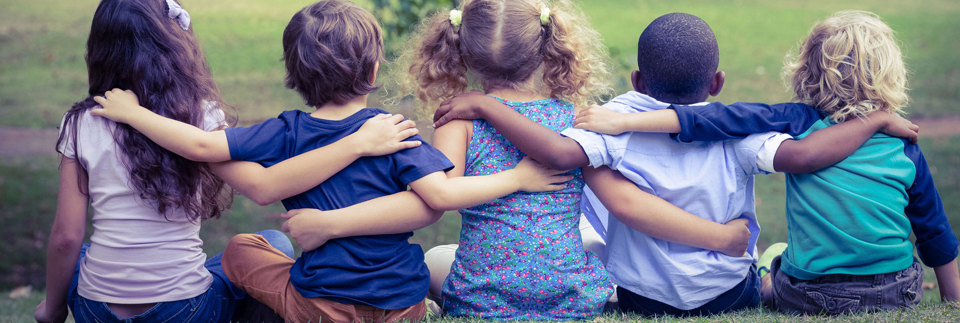
<instances>
[{"instance_id":1,"label":"back of blond wavy-haired head of child in teal shirt","mask_svg":"<svg viewBox=\"0 0 960 323\"><path fill-rule=\"evenodd\" d=\"M894 31L873 12L836 12L813 25L783 78L794 100L816 106L834 122L874 111L902 113L906 67Z\"/></svg>"}]
</instances>

